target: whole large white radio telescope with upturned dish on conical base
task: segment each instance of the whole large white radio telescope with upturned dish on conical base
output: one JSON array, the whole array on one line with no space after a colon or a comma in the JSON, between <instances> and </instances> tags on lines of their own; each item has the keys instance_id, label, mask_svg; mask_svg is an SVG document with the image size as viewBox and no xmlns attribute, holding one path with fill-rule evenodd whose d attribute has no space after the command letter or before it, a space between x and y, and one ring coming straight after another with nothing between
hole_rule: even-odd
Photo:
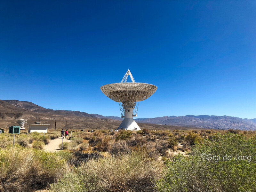
<instances>
[{"instance_id":1,"label":"whole large white radio telescope with upturned dish on conical base","mask_svg":"<svg viewBox=\"0 0 256 192\"><path fill-rule=\"evenodd\" d=\"M128 83L127 78L130 76L132 82ZM119 102L121 117L124 120L117 130L140 130L133 117L137 116L139 101L148 99L157 87L147 83L135 83L131 71L125 73L121 83L106 84L100 87L100 90L110 99ZM137 105L138 104L138 105Z\"/></svg>"}]
</instances>

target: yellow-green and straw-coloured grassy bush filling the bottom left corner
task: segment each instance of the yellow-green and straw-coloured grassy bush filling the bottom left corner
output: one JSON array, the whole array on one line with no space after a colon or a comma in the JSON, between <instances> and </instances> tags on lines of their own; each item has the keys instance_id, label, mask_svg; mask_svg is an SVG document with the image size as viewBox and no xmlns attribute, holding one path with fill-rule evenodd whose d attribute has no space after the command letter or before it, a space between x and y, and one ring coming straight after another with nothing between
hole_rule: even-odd
<instances>
[{"instance_id":1,"label":"yellow-green and straw-coloured grassy bush filling the bottom left corner","mask_svg":"<svg viewBox=\"0 0 256 192\"><path fill-rule=\"evenodd\" d=\"M1 192L44 188L67 169L65 160L53 153L21 147L0 149L0 165Z\"/></svg>"}]
</instances>

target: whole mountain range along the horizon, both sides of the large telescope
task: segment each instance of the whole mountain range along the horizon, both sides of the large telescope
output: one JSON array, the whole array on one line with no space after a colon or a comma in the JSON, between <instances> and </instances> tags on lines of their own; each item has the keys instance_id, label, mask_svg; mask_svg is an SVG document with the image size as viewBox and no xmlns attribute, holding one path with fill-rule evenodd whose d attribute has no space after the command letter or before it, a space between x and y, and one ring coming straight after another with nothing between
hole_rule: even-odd
<instances>
[{"instance_id":1,"label":"whole mountain range along the horizon, both sides of the large telescope","mask_svg":"<svg viewBox=\"0 0 256 192\"><path fill-rule=\"evenodd\" d=\"M8 127L13 125L18 119L26 119L28 123L42 121L55 124L57 127L64 127L66 121L68 127L90 129L115 129L120 121L117 116L102 116L99 114L89 114L81 111L53 110L43 108L29 101L0 100L0 126ZM208 116L208 115L187 115L187 116L163 116L155 118L137 118L135 121L141 128L150 129L239 129L256 130L255 119L242 119L231 116ZM28 124L25 125L28 126Z\"/></svg>"}]
</instances>

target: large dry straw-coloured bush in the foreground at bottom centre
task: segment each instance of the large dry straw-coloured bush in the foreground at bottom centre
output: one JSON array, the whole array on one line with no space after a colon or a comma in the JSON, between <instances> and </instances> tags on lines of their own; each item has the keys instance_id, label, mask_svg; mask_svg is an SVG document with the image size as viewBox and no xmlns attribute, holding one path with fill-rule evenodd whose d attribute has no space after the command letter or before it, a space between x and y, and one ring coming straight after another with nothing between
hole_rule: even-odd
<instances>
[{"instance_id":1,"label":"large dry straw-coloured bush in the foreground at bottom centre","mask_svg":"<svg viewBox=\"0 0 256 192\"><path fill-rule=\"evenodd\" d=\"M72 191L154 191L162 165L143 154L131 153L91 159L51 185L51 190Z\"/></svg>"}]
</instances>

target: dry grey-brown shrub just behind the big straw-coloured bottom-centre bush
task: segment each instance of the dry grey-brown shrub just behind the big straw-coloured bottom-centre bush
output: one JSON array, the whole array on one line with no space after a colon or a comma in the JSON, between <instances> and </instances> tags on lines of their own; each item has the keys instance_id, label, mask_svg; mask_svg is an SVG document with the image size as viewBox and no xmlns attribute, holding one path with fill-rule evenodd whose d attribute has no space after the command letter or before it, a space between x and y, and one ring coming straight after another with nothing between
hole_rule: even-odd
<instances>
[{"instance_id":1,"label":"dry grey-brown shrub just behind the big straw-coloured bottom-centre bush","mask_svg":"<svg viewBox=\"0 0 256 192\"><path fill-rule=\"evenodd\" d=\"M109 153L113 155L129 153L131 152L131 148L127 145L125 140L118 140L117 142L109 143Z\"/></svg>"}]
</instances>

